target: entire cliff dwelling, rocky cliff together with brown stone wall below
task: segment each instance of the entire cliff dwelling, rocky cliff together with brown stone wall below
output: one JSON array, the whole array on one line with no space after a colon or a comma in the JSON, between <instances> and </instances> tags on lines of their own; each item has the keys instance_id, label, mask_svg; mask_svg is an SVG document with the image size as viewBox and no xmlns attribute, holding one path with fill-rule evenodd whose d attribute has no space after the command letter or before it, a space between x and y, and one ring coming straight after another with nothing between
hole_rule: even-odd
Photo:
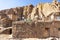
<instances>
[{"instance_id":1,"label":"entire cliff dwelling, rocky cliff together with brown stone wall below","mask_svg":"<svg viewBox=\"0 0 60 40\"><path fill-rule=\"evenodd\" d=\"M60 38L60 2L1 10L0 34L13 38Z\"/></svg>"}]
</instances>

